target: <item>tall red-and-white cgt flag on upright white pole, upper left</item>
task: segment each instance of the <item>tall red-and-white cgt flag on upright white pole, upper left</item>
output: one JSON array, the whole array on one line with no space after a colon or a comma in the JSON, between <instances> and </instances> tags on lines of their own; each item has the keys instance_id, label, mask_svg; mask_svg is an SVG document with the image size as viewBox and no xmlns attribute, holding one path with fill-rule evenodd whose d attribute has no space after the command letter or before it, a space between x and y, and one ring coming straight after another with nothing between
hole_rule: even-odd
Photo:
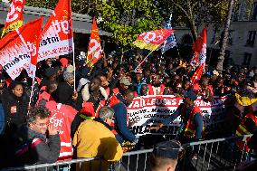
<instances>
[{"instance_id":1,"label":"tall red-and-white cgt flag on upright white pole, upper left","mask_svg":"<svg viewBox=\"0 0 257 171\"><path fill-rule=\"evenodd\" d=\"M38 61L73 52L71 0L59 0L42 32Z\"/></svg>"}]
</instances>

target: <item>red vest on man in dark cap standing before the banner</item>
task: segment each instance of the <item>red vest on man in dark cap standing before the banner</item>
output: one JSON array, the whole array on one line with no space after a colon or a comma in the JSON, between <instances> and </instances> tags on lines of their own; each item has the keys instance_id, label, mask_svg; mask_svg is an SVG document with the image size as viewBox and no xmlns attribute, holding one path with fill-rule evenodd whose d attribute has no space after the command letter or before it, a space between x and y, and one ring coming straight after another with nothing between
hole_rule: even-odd
<instances>
[{"instance_id":1,"label":"red vest on man in dark cap standing before the banner","mask_svg":"<svg viewBox=\"0 0 257 171\"><path fill-rule=\"evenodd\" d=\"M201 116L203 117L202 112L199 109L199 107L194 106L193 109L191 109L191 111L189 113L189 118L186 122L187 117L186 117L186 112L185 111L186 111L186 107L184 107L180 110L181 119L183 120L184 123L186 123L184 136L185 136L185 138L188 138L188 139L195 138L196 128L195 128L194 116L195 116L195 113L199 112L199 113L201 113ZM204 131L203 131L203 133L204 133ZM202 133L202 135L203 135L203 133Z\"/></svg>"}]
</instances>

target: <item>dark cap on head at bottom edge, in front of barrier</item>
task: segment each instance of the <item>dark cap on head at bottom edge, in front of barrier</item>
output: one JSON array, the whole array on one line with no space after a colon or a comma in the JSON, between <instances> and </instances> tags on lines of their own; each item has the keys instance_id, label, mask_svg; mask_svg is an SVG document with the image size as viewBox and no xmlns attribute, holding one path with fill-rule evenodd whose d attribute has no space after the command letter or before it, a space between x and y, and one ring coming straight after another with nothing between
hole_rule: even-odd
<instances>
[{"instance_id":1,"label":"dark cap on head at bottom edge, in front of barrier","mask_svg":"<svg viewBox=\"0 0 257 171\"><path fill-rule=\"evenodd\" d=\"M164 157L176 160L182 147L175 141L164 141L157 143L154 147L153 155L155 157Z\"/></svg>"}]
</instances>

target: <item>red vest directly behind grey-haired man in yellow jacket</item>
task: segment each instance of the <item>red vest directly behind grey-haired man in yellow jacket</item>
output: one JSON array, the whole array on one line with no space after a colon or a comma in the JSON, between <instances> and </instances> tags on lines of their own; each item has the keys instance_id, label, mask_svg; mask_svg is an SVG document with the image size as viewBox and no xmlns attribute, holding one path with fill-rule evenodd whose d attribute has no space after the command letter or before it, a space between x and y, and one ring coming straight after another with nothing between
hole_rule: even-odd
<instances>
[{"instance_id":1,"label":"red vest directly behind grey-haired man in yellow jacket","mask_svg":"<svg viewBox=\"0 0 257 171\"><path fill-rule=\"evenodd\" d=\"M98 112L105 105L106 101L101 100L98 108L96 111L94 110L94 106L92 102L84 101L82 103L82 109L81 109L81 118L83 119L94 119L98 117Z\"/></svg>"}]
</instances>

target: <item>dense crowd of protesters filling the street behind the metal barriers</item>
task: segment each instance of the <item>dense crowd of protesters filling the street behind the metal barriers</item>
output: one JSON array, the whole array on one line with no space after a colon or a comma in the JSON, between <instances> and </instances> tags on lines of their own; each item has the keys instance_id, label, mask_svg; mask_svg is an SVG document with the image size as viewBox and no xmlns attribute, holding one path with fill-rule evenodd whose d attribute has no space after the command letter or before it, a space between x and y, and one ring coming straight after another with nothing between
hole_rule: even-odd
<instances>
[{"instance_id":1,"label":"dense crowd of protesters filling the street behind the metal barriers","mask_svg":"<svg viewBox=\"0 0 257 171\"><path fill-rule=\"evenodd\" d=\"M34 83L26 71L15 81L2 71L0 165L53 163L82 157L118 161L124 142L132 146L138 142L129 129L133 123L128 123L127 107L135 97L146 95L184 99L174 117L166 120L170 124L181 116L181 143L204 138L203 115L194 105L197 97L212 102L214 96L227 96L227 128L221 137L252 134L256 130L256 67L228 66L224 71L215 71L206 65L201 80L192 85L195 63L153 55L138 67L143 60L141 55L123 62L119 59L114 54L103 54L92 68L85 60L73 67L64 56L47 59L38 63ZM62 111L56 114L55 110ZM55 119L58 115L62 117ZM189 126L189 122L193 124ZM61 133L54 124L66 128ZM162 124L157 128L161 127ZM108 163L101 165L108 167Z\"/></svg>"}]
</instances>

